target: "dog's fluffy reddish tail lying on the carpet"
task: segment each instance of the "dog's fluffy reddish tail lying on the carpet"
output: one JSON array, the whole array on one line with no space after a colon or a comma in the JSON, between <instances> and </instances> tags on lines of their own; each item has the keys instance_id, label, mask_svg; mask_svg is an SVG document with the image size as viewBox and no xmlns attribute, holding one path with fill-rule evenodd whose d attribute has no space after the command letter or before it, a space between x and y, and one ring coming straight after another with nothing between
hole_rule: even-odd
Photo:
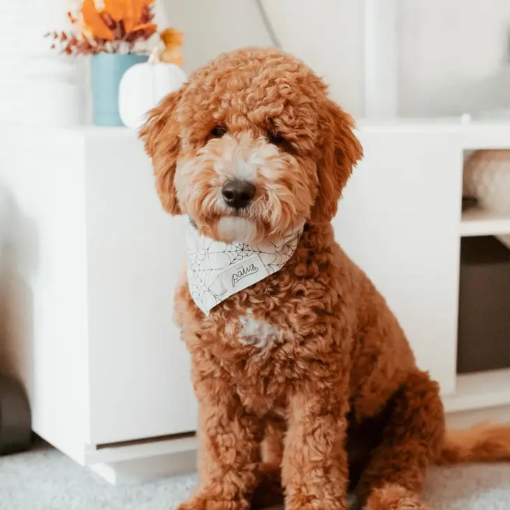
<instances>
[{"instance_id":1,"label":"dog's fluffy reddish tail lying on the carpet","mask_svg":"<svg viewBox=\"0 0 510 510\"><path fill-rule=\"evenodd\" d=\"M447 430L439 465L510 460L510 424L480 423L467 430Z\"/></svg>"}]
</instances>

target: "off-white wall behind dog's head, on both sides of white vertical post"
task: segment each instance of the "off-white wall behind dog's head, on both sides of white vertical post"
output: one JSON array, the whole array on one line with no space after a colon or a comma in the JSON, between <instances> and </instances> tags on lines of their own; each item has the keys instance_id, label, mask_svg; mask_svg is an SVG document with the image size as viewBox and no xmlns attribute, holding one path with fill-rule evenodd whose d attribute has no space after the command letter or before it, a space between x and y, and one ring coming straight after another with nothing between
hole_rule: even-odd
<instances>
[{"instance_id":1,"label":"off-white wall behind dog's head, on both sides of white vertical post","mask_svg":"<svg viewBox=\"0 0 510 510\"><path fill-rule=\"evenodd\" d=\"M220 51L267 45L254 0L163 0L186 31L187 68ZM384 1L384 0L381 0ZM363 104L363 1L264 0L284 48L330 84L355 115ZM510 107L509 0L398 0L400 114Z\"/></svg>"}]
</instances>

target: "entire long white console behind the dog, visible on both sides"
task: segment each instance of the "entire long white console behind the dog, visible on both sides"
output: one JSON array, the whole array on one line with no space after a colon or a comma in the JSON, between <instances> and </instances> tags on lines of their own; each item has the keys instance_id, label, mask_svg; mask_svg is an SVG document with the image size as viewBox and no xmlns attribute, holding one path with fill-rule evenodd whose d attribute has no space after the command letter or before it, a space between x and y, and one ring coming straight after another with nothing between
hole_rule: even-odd
<instances>
[{"instance_id":1,"label":"entire long white console behind the dog, visible on both sides","mask_svg":"<svg viewBox=\"0 0 510 510\"><path fill-rule=\"evenodd\" d=\"M462 154L510 147L510 124L361 123L358 136L338 240L441 382L451 423L510 420L510 370L456 374L460 236L510 233L509 218L461 216ZM112 483L194 469L196 403L172 320L185 220L161 210L142 144L97 128L3 140L6 350L34 431Z\"/></svg>"}]
</instances>

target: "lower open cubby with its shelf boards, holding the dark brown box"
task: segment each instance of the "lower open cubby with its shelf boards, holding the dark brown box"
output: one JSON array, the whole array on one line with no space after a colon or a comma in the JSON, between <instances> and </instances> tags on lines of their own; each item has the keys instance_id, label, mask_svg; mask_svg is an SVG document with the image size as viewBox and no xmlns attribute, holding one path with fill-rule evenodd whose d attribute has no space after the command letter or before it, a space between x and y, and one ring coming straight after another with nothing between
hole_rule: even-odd
<instances>
[{"instance_id":1,"label":"lower open cubby with its shelf boards, holding the dark brown box","mask_svg":"<svg viewBox=\"0 0 510 510\"><path fill-rule=\"evenodd\" d=\"M510 214L480 205L462 212L458 373L456 392L445 399L449 412L510 402L509 239Z\"/></svg>"}]
</instances>

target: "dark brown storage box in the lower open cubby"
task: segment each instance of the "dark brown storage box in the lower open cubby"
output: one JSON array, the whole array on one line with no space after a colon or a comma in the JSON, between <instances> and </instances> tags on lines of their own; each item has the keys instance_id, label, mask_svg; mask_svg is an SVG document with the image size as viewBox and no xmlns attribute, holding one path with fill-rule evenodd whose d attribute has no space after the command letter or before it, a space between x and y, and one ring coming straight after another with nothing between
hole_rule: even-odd
<instances>
[{"instance_id":1,"label":"dark brown storage box in the lower open cubby","mask_svg":"<svg viewBox=\"0 0 510 510\"><path fill-rule=\"evenodd\" d=\"M494 237L462 238L457 372L510 367L510 249Z\"/></svg>"}]
</instances>

